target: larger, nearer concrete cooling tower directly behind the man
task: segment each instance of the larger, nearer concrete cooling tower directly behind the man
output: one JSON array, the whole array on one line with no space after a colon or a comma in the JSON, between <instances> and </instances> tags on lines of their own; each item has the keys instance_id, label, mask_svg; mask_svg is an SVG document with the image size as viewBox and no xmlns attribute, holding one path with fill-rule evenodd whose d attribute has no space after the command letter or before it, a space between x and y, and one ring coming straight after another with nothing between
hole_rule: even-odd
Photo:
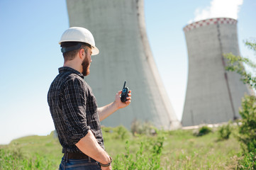
<instances>
[{"instance_id":1,"label":"larger, nearer concrete cooling tower directly behind the man","mask_svg":"<svg viewBox=\"0 0 256 170\"><path fill-rule=\"evenodd\" d=\"M67 0L69 26L87 28L94 35L99 55L92 57L85 79L104 106L114 101L123 83L132 91L132 103L101 122L130 128L133 120L157 128L179 128L160 79L145 30L142 0Z\"/></svg>"}]
</instances>

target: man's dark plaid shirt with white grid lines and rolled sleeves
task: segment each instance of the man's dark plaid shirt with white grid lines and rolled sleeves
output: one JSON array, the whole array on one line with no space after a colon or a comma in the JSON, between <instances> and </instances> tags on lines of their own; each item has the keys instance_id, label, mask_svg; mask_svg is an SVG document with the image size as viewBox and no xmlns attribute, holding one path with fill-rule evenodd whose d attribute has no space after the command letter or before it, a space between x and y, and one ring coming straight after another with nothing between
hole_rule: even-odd
<instances>
[{"instance_id":1,"label":"man's dark plaid shirt with white grid lines and rolled sleeves","mask_svg":"<svg viewBox=\"0 0 256 170\"><path fill-rule=\"evenodd\" d=\"M48 91L48 105L62 153L81 152L75 144L88 130L104 148L96 98L80 72L70 67L59 68Z\"/></svg>"}]
</instances>

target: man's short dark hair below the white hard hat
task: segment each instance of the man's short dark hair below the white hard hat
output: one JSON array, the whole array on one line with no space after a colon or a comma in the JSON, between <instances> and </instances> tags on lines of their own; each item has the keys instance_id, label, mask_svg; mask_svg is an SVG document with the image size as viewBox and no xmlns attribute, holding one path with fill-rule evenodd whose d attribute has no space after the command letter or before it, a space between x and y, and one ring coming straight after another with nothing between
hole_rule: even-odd
<instances>
[{"instance_id":1,"label":"man's short dark hair below the white hard hat","mask_svg":"<svg viewBox=\"0 0 256 170\"><path fill-rule=\"evenodd\" d=\"M87 53L87 47L91 48L91 45L89 45L87 43L84 43L84 42L71 42L71 41L69 41L69 42L62 42L60 47L72 47L72 46L78 45L78 43L82 43L82 45L81 45L81 47L79 49L62 53L65 61L73 60L74 57L77 55L77 52L79 52L81 49L84 49L85 53Z\"/></svg>"}]
</instances>

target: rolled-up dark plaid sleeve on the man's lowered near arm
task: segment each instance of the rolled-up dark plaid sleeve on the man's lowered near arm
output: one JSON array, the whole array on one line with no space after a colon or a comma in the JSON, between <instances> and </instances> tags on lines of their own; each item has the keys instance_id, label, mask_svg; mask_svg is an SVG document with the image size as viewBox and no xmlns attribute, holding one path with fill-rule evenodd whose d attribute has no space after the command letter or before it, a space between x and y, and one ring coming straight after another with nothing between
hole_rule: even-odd
<instances>
[{"instance_id":1,"label":"rolled-up dark plaid sleeve on the man's lowered near arm","mask_svg":"<svg viewBox=\"0 0 256 170\"><path fill-rule=\"evenodd\" d=\"M81 79L67 81L63 89L62 112L69 140L79 142L90 129L86 115L86 89Z\"/></svg>"}]
</instances>

